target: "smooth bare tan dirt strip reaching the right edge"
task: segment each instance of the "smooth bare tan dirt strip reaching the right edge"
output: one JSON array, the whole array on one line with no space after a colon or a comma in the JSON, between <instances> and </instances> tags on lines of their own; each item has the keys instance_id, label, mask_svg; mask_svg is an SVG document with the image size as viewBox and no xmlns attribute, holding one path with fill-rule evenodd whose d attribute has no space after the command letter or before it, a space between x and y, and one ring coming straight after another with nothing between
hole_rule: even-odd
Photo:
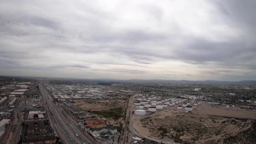
<instances>
[{"instance_id":1,"label":"smooth bare tan dirt strip reaching the right edge","mask_svg":"<svg viewBox=\"0 0 256 144\"><path fill-rule=\"evenodd\" d=\"M227 109L222 109L222 108L207 107L207 106L203 106L203 105L198 107L197 111L194 111L194 113L203 114L203 115L232 117L232 118L256 119L256 111L227 110Z\"/></svg>"}]
</instances>

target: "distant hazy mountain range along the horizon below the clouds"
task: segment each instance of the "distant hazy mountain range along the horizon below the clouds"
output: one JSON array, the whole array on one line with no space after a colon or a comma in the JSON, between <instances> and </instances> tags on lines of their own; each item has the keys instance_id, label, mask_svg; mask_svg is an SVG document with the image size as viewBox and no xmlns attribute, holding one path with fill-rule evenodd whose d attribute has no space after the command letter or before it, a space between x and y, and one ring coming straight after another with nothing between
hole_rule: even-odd
<instances>
[{"instance_id":1,"label":"distant hazy mountain range along the horizon below the clouds","mask_svg":"<svg viewBox=\"0 0 256 144\"><path fill-rule=\"evenodd\" d=\"M40 79L40 80L70 80L70 81L84 81L84 82L110 82L110 83L219 83L219 84L256 84L256 81L245 80L239 82L232 81L215 81L215 80L204 80L204 81L190 81L190 80L162 80L162 79L128 79L128 80L118 80L118 79L71 79L71 78L48 78L48 77L21 77L21 76L0 76L0 78L25 78L25 79Z\"/></svg>"}]
</instances>

